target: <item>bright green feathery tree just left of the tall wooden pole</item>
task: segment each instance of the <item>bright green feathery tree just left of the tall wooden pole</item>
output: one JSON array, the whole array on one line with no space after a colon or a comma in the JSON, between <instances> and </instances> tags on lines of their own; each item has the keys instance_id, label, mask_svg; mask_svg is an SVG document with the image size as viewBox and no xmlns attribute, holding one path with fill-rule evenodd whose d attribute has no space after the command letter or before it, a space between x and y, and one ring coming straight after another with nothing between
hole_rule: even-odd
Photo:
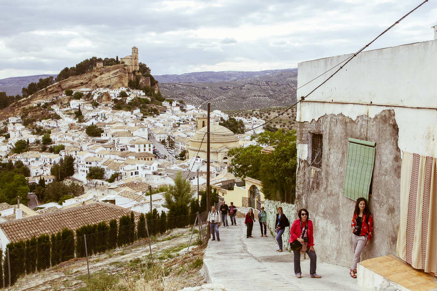
<instances>
[{"instance_id":1,"label":"bright green feathery tree just left of the tall wooden pole","mask_svg":"<svg viewBox=\"0 0 437 291\"><path fill-rule=\"evenodd\" d=\"M170 209L170 205L173 203L182 203L188 206L192 197L191 183L182 177L180 171L176 174L174 185L169 185L168 188L168 191L163 195L165 200L164 207Z\"/></svg>"}]
</instances>

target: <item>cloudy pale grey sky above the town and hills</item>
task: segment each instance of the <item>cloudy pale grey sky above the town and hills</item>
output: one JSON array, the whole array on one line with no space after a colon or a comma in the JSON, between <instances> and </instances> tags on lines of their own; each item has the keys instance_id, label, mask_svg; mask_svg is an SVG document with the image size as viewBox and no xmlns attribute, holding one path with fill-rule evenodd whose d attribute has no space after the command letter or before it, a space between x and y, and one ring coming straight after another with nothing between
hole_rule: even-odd
<instances>
[{"instance_id":1,"label":"cloudy pale grey sky above the town and hills","mask_svg":"<svg viewBox=\"0 0 437 291\"><path fill-rule=\"evenodd\" d=\"M0 79L139 48L153 75L295 68L353 53L422 0L2 1ZM434 38L430 0L369 49Z\"/></svg>"}]
</instances>

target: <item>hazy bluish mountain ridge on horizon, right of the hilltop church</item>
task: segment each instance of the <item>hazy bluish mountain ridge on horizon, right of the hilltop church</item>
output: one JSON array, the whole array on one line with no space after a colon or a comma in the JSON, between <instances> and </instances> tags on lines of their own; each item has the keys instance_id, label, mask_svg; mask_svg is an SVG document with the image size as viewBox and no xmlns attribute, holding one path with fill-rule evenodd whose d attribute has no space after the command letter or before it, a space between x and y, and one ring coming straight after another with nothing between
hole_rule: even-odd
<instances>
[{"instance_id":1,"label":"hazy bluish mountain ridge on horizon, right of the hilltop church","mask_svg":"<svg viewBox=\"0 0 437 291\"><path fill-rule=\"evenodd\" d=\"M200 82L226 82L238 79L246 79L251 77L260 77L274 74L277 72L298 72L297 68L281 69L281 70L265 70L257 72L246 71L221 71L221 72L192 72L182 75L154 75L155 79L160 83L200 83Z\"/></svg>"}]
</instances>

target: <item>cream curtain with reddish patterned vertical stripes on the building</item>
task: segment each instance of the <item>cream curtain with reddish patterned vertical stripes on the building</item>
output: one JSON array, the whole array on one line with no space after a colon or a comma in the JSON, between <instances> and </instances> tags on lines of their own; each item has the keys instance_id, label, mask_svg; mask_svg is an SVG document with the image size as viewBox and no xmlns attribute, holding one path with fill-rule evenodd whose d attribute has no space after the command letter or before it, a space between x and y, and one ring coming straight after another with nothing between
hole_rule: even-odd
<instances>
[{"instance_id":1,"label":"cream curtain with reddish patterned vertical stripes on the building","mask_svg":"<svg viewBox=\"0 0 437 291\"><path fill-rule=\"evenodd\" d=\"M403 152L398 256L437 275L436 158Z\"/></svg>"}]
</instances>

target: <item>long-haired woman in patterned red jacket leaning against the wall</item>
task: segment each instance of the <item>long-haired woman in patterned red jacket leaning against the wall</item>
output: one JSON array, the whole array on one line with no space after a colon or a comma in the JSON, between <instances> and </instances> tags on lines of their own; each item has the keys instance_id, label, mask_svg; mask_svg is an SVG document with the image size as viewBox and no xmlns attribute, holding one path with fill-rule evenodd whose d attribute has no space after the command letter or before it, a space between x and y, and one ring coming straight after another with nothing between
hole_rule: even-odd
<instances>
[{"instance_id":1,"label":"long-haired woman in patterned red jacket leaning against the wall","mask_svg":"<svg viewBox=\"0 0 437 291\"><path fill-rule=\"evenodd\" d=\"M367 201L358 198L355 203L354 216L352 217L352 243L354 246L354 260L350 269L350 276L356 278L357 264L360 261L361 252L368 246L373 233L373 219Z\"/></svg>"}]
</instances>

